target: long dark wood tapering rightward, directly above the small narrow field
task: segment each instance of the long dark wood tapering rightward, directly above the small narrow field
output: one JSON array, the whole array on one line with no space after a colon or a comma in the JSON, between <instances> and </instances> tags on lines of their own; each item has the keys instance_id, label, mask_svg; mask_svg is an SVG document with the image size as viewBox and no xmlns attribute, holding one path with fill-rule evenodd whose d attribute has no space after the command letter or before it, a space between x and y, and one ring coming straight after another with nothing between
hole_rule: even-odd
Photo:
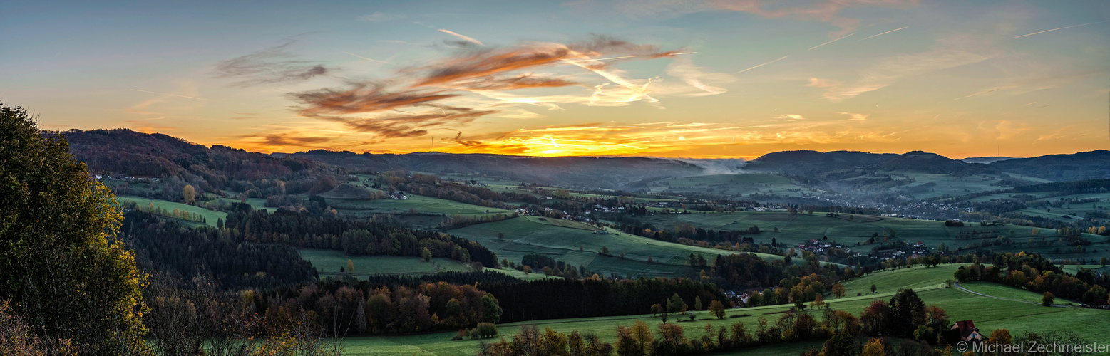
<instances>
[{"instance_id":1,"label":"long dark wood tapering rightward, directly above the small narrow field","mask_svg":"<svg viewBox=\"0 0 1110 356\"><path fill-rule=\"evenodd\" d=\"M243 241L297 247L340 250L353 255L421 256L477 262L494 266L497 257L485 246L466 238L427 231L380 224L370 220L313 216L305 212L276 210L268 213L239 204L218 227Z\"/></svg>"}]
</instances>

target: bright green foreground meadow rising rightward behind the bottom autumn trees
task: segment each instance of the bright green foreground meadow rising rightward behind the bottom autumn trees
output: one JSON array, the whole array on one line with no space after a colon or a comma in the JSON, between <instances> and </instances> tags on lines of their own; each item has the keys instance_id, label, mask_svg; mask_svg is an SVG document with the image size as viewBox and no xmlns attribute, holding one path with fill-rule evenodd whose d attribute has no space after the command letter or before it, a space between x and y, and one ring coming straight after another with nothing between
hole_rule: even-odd
<instances>
[{"instance_id":1,"label":"bright green foreground meadow rising rightward behind the bottom autumn trees","mask_svg":"<svg viewBox=\"0 0 1110 356\"><path fill-rule=\"evenodd\" d=\"M889 299L896 292L896 281L915 281L925 278L928 281L945 281L951 275L951 266L940 266L919 271L915 268L884 271L872 273L849 283L857 285L871 284L884 285L879 293L865 295L861 297L849 296L844 298L829 298L826 303L835 309L842 309L859 315L864 307L875 299ZM917 282L914 282L917 283ZM989 335L996 328L1006 328L1013 335L1025 332L1042 332L1046 326L1083 325L1083 327L1069 327L1081 337L1090 342L1100 342L1110 337L1110 312L1087 309L1087 308L1057 308L1042 307L1039 305L1026 304L1012 301L1002 301L977 296L957 288L946 288L941 285L921 286L915 289L926 303L926 305L937 305L948 312L950 319L963 321L972 319L976 326ZM869 291L868 291L869 292ZM1023 291L1021 291L1023 292ZM1027 292L1028 293L1028 292ZM786 305L761 306L754 308L728 309L728 315L750 315L743 317L728 317L723 321L710 318L705 312L697 312L698 321L694 323L679 323L686 328L687 338L696 338L703 335L702 327L713 324L714 327L730 325L743 322L748 330L756 329L758 317L766 317L774 322L779 315L774 314L789 308ZM818 319L821 313L816 311L810 313ZM576 319L553 319L534 321L527 323L509 323L498 325L498 332L504 336L512 336L525 324L535 324L541 328L551 327L557 332L569 333L595 333L603 340L613 342L616 338L615 329L619 325L632 325L636 319L643 319L649 325L657 325L659 319L650 315L594 317ZM672 322L674 323L674 322ZM386 336L386 337L352 337L345 339L346 355L473 355L477 349L477 340L452 342L454 332L432 333L422 335ZM748 350L741 350L738 355L796 355L810 347L819 348L820 343L789 343L773 345Z\"/></svg>"}]
</instances>

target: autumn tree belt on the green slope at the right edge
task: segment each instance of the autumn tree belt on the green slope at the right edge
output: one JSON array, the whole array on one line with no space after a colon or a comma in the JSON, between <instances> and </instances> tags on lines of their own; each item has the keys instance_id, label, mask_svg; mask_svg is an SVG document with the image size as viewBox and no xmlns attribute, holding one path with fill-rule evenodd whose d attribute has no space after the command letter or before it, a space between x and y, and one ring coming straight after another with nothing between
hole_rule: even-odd
<instances>
[{"instance_id":1,"label":"autumn tree belt on the green slope at the right edge","mask_svg":"<svg viewBox=\"0 0 1110 356\"><path fill-rule=\"evenodd\" d=\"M1107 286L1110 276L1098 274L1091 269L1080 268L1076 275L1069 275L1059 266L1040 256L1025 252L1012 254L996 254L992 266L975 263L960 266L953 276L960 282L985 281L995 282L1028 289L1037 293L1049 292L1056 297L1063 297L1082 303L1108 299Z\"/></svg>"}]
</instances>

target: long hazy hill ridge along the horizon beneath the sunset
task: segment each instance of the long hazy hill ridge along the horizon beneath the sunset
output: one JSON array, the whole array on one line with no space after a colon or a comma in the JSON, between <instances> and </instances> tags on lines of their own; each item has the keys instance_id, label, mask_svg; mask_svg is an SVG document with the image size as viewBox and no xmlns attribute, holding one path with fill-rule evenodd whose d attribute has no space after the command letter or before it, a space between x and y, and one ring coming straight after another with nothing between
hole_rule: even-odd
<instances>
[{"instance_id":1,"label":"long hazy hill ridge along the horizon beneath the sunset","mask_svg":"<svg viewBox=\"0 0 1110 356\"><path fill-rule=\"evenodd\" d=\"M622 187L662 176L689 176L710 170L705 162L640 156L521 156L488 153L371 154L313 150L296 153L263 154L224 145L206 148L161 133L140 133L127 129L70 130L60 133L70 142L71 152L98 174L151 176L180 175L194 164L226 170L235 176L236 165L252 171L293 172L313 167L315 162L351 170L410 170L430 173L465 173L503 176L524 182L562 185ZM991 162L987 159L998 159ZM969 162L970 161L970 162ZM781 151L747 162L745 171L785 173L817 180L850 176L856 169L910 171L922 173L997 174L1018 173L1051 181L1078 181L1110 177L1110 151L1097 150L1073 154L1050 154L1030 159L977 157L952 160L936 153L912 151L902 154L860 151ZM287 173L287 171L286 171ZM193 174L202 175L201 172ZM241 176L239 179L249 179Z\"/></svg>"}]
</instances>

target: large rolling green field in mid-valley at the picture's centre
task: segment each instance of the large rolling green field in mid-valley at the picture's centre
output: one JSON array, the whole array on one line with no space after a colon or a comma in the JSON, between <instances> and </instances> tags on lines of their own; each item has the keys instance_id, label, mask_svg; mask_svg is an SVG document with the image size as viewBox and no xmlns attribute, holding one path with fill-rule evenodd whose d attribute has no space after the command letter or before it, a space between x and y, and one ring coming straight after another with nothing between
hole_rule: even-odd
<instances>
[{"instance_id":1,"label":"large rolling green field in mid-valley at the picture's centre","mask_svg":"<svg viewBox=\"0 0 1110 356\"><path fill-rule=\"evenodd\" d=\"M453 235L477 241L497 254L497 258L519 262L528 253L541 253L566 262L572 266L586 266L595 273L632 276L677 276L687 275L693 269L685 267L689 255L702 254L712 258L730 252L687 246L655 241L636 235L609 231L596 233L599 228L573 221L521 216L496 223L471 225L448 231ZM497 238L497 233L505 235ZM612 256L598 254L608 247ZM617 257L620 253L624 258ZM761 255L779 260L781 256ZM652 263L648 263L648 257Z\"/></svg>"}]
</instances>

